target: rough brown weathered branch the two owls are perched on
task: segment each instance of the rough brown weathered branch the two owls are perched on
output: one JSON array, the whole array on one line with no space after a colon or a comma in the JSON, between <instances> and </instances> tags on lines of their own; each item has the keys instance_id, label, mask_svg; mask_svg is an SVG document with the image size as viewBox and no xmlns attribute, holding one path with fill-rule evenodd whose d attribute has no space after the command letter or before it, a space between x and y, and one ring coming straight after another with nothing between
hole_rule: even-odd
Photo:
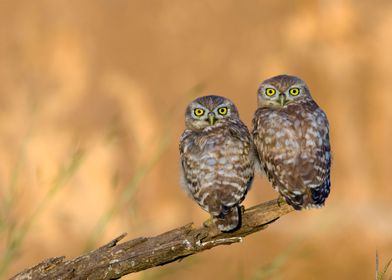
<instances>
[{"instance_id":1,"label":"rough brown weathered branch the two owls are perched on","mask_svg":"<svg viewBox=\"0 0 392 280\"><path fill-rule=\"evenodd\" d=\"M243 211L243 210L242 210ZM202 227L188 224L155 237L140 237L119 243L122 234L108 244L72 260L55 257L22 271L11 279L118 279L133 272L165 265L219 245L241 242L293 211L286 203L268 201L242 213L241 227L220 232L211 220Z\"/></svg>"}]
</instances>

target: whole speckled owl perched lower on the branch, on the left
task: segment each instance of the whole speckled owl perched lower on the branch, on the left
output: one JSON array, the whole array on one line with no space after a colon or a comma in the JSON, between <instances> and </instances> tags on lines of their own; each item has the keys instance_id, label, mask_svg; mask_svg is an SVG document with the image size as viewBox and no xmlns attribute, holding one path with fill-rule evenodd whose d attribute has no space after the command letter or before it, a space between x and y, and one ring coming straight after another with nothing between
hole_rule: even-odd
<instances>
[{"instance_id":1,"label":"whole speckled owl perched lower on the branch, on the left","mask_svg":"<svg viewBox=\"0 0 392 280\"><path fill-rule=\"evenodd\" d=\"M181 183L223 232L240 226L239 205L252 184L255 160L250 132L233 102L210 95L188 105L180 139Z\"/></svg>"}]
</instances>

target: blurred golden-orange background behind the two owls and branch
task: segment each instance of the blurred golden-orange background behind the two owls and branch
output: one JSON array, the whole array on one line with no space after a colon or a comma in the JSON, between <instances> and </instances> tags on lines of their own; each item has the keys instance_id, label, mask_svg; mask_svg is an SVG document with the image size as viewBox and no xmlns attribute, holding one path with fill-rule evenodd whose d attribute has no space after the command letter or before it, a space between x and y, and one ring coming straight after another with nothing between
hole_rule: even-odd
<instances>
[{"instance_id":1,"label":"blurred golden-orange background behind the two owls and branch","mask_svg":"<svg viewBox=\"0 0 392 280\"><path fill-rule=\"evenodd\" d=\"M294 74L326 111L326 207L125 279L371 279L392 257L392 3L0 2L0 278L122 232L208 218L179 187L196 96L248 125L259 83ZM277 194L258 178L246 207Z\"/></svg>"}]
</instances>

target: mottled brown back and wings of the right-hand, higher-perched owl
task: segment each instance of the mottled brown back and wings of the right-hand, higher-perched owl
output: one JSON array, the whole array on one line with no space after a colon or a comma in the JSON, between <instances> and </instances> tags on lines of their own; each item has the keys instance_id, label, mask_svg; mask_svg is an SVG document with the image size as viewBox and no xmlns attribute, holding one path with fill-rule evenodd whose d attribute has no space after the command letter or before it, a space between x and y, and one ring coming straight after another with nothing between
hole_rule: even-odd
<instances>
[{"instance_id":1,"label":"mottled brown back and wings of the right-hand, higher-perched owl","mask_svg":"<svg viewBox=\"0 0 392 280\"><path fill-rule=\"evenodd\" d=\"M329 178L325 114L315 103L293 105L288 110L260 108L253 124L260 161L274 188L297 200L293 202L297 205L311 203L310 188Z\"/></svg>"}]
</instances>

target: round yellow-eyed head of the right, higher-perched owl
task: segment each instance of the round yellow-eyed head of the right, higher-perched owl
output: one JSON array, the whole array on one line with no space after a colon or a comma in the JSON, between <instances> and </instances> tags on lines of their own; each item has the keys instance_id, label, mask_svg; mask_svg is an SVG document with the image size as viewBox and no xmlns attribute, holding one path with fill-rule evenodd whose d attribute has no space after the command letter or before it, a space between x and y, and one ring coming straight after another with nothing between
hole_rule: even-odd
<instances>
[{"instance_id":1,"label":"round yellow-eyed head of the right, higher-perched owl","mask_svg":"<svg viewBox=\"0 0 392 280\"><path fill-rule=\"evenodd\" d=\"M310 97L308 86L300 78L279 75L261 83L257 100L259 107L282 108Z\"/></svg>"}]
</instances>

